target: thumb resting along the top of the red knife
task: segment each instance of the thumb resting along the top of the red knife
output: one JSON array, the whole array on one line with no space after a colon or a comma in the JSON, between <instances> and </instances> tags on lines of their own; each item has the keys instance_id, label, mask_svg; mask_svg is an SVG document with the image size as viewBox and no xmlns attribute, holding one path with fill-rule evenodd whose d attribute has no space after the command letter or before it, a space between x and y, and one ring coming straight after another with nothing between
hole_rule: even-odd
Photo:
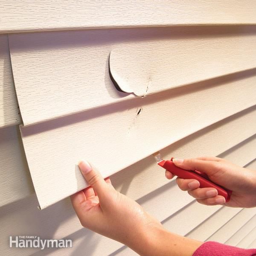
<instances>
[{"instance_id":1,"label":"thumb resting along the top of the red knife","mask_svg":"<svg viewBox=\"0 0 256 256\"><path fill-rule=\"evenodd\" d=\"M199 172L204 172L209 176L214 175L216 172L219 171L219 168L218 168L219 163L217 161L207 161L207 160L201 160L196 158L190 158L190 159L174 158L172 161L177 167L180 167L182 169L189 170L189 171L197 170Z\"/></svg>"}]
</instances>

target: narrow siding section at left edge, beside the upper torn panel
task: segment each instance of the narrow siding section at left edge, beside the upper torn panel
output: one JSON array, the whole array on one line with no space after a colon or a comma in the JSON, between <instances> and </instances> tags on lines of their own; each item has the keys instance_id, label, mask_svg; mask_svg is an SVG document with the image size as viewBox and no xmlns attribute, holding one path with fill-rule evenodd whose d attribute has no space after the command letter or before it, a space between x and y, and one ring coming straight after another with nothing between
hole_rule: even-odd
<instances>
[{"instance_id":1,"label":"narrow siding section at left edge, beside the upper torn panel","mask_svg":"<svg viewBox=\"0 0 256 256\"><path fill-rule=\"evenodd\" d=\"M0 35L0 128L20 123L8 36Z\"/></svg>"}]
</instances>

